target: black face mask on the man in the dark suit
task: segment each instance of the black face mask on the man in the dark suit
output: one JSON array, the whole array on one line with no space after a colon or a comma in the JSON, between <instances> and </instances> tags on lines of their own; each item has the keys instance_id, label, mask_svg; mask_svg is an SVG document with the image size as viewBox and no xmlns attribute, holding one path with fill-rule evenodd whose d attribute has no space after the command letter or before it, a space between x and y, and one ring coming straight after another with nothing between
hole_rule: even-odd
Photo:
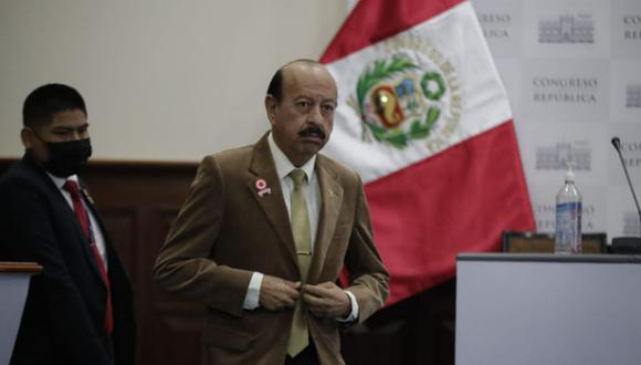
<instances>
[{"instance_id":1,"label":"black face mask on the man in the dark suit","mask_svg":"<svg viewBox=\"0 0 641 365\"><path fill-rule=\"evenodd\" d=\"M46 142L49 160L42 166L54 176L67 177L76 175L87 164L92 156L90 138L69 142Z\"/></svg>"}]
</instances>

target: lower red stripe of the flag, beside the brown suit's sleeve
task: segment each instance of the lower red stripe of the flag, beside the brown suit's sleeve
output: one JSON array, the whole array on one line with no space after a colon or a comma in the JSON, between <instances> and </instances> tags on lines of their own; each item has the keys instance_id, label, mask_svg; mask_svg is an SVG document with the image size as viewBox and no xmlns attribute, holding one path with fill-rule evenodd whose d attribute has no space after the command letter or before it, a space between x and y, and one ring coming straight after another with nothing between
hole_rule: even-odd
<instances>
[{"instance_id":1,"label":"lower red stripe of the flag, beside the brown suit's sleeve","mask_svg":"<svg viewBox=\"0 0 641 365\"><path fill-rule=\"evenodd\" d=\"M454 275L460 252L496 251L535 227L509 121L365 186L390 278L387 305Z\"/></svg>"}]
</instances>

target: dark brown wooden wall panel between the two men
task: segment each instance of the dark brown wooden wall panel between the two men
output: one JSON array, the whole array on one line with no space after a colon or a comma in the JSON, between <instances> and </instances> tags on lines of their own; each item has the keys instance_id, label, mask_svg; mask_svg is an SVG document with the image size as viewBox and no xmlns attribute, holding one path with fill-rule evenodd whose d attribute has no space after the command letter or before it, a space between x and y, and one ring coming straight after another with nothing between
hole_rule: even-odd
<instances>
[{"instance_id":1,"label":"dark brown wooden wall panel between the two men","mask_svg":"<svg viewBox=\"0 0 641 365\"><path fill-rule=\"evenodd\" d=\"M140 364L199 364L200 303L162 292L151 269L196 175L196 164L95 164L85 174L118 250L130 260Z\"/></svg>"}]
</instances>

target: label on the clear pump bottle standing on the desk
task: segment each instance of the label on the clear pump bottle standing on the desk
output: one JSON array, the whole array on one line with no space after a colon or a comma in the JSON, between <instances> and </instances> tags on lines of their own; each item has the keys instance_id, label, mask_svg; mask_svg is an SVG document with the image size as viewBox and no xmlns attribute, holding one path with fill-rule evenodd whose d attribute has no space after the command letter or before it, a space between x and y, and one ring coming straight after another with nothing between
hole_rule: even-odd
<instances>
[{"instance_id":1,"label":"label on the clear pump bottle standing on the desk","mask_svg":"<svg viewBox=\"0 0 641 365\"><path fill-rule=\"evenodd\" d=\"M556 205L557 252L581 252L581 202Z\"/></svg>"}]
</instances>

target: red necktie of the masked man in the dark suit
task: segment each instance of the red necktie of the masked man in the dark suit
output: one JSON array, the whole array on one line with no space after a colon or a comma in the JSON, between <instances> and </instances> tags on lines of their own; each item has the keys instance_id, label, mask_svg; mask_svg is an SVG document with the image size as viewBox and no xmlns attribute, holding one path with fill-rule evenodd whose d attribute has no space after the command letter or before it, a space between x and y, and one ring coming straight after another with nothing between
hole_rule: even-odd
<instances>
[{"instance_id":1,"label":"red necktie of the masked man in the dark suit","mask_svg":"<svg viewBox=\"0 0 641 365\"><path fill-rule=\"evenodd\" d=\"M103 262L101 252L98 252L98 247L96 246L93 234L90 231L90 216L87 215L85 206L82 201L77 182L67 180L66 182L64 182L63 188L71 195L73 210L75 211L75 216L81 225L83 232L85 233L85 237L90 241L94 259L96 261L96 264L98 265L98 271L101 272L101 277L103 278L105 285L107 286L107 310L105 314L105 330L107 331L107 335L111 336L112 333L114 332L114 314L112 310L112 290L109 285L109 277L107 275L107 270L105 270L105 263Z\"/></svg>"}]
</instances>

